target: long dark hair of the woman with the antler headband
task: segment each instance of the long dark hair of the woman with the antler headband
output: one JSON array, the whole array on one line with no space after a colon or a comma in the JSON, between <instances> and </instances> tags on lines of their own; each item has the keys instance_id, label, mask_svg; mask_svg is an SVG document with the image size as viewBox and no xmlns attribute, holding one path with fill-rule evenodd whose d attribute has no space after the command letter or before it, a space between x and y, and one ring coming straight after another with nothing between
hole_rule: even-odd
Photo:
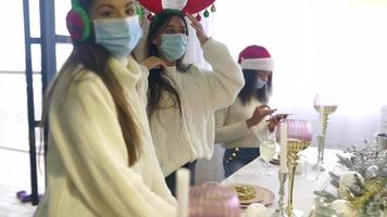
<instances>
[{"instance_id":1,"label":"long dark hair of the woman with the antler headband","mask_svg":"<svg viewBox=\"0 0 387 217\"><path fill-rule=\"evenodd\" d=\"M157 44L153 43L154 39L161 34L161 31L166 27L173 17L179 17L184 22L186 27L186 35L188 36L188 25L184 20L184 14L177 10L164 10L159 13L150 23L148 37L146 40L147 55L160 58L159 49ZM183 58L176 61L176 69L179 72L186 72L188 67L183 65ZM162 68L153 68L149 72L149 86L148 86L148 114L149 117L152 116L152 113L159 108L166 108L160 105L161 95L163 91L172 94L172 98L175 102L173 105L178 107L182 115L182 102L178 92L174 88L173 80L164 73Z\"/></svg>"}]
</instances>

